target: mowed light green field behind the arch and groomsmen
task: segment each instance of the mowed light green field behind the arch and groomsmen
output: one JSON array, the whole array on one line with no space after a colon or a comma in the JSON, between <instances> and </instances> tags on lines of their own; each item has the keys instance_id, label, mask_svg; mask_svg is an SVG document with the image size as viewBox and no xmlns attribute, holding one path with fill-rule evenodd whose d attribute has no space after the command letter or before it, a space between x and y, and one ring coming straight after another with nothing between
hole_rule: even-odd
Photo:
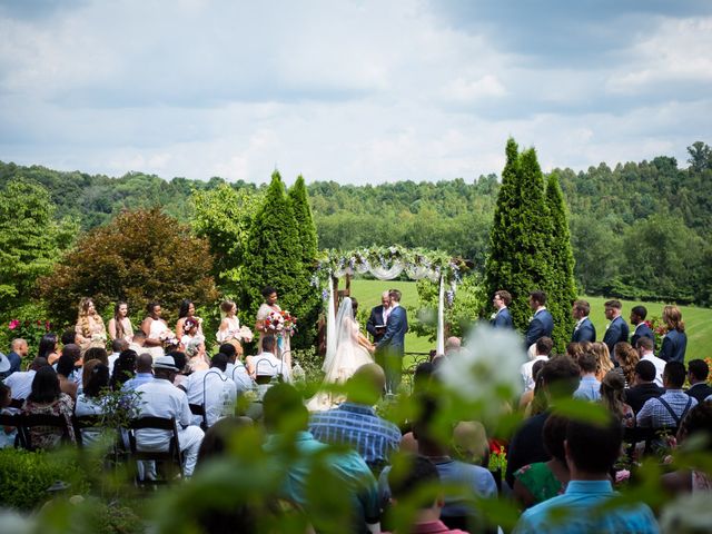
<instances>
[{"instance_id":1,"label":"mowed light green field behind the arch and groomsmen","mask_svg":"<svg viewBox=\"0 0 712 534\"><path fill-rule=\"evenodd\" d=\"M343 286L342 286L343 287ZM392 287L403 293L402 303L405 306L415 306L418 301L418 293L415 281L380 281L380 280L352 280L352 296L356 297L359 308L370 310L374 306L380 304L380 294ZM603 338L605 333L606 319L603 315L603 303L607 300L604 297L583 297L591 303L591 320L596 327L596 337ZM629 322L631 308L633 306L645 306L647 308L647 317L660 317L663 313L664 304L659 303L639 303L633 300L621 300L623 304L623 317ZM682 318L685 323L685 332L688 334L688 352L685 359L705 358L712 356L712 309L698 308L694 306L680 306ZM360 312L360 309L359 309ZM411 318L413 320L413 318ZM365 325L362 325L362 328ZM418 337L415 334L407 334L405 347L407 352L427 353L435 348L435 342L428 342L425 337Z\"/></svg>"}]
</instances>

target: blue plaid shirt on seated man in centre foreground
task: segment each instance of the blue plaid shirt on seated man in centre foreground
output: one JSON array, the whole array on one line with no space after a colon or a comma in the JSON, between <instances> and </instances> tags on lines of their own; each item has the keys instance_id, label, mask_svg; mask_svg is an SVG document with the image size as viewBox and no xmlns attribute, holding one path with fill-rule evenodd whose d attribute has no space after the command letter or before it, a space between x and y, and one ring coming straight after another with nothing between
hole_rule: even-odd
<instances>
[{"instance_id":1,"label":"blue plaid shirt on seated man in centre foreground","mask_svg":"<svg viewBox=\"0 0 712 534\"><path fill-rule=\"evenodd\" d=\"M388 464L400 444L396 425L378 417L370 406L355 403L312 414L309 432L320 442L355 448L372 469Z\"/></svg>"}]
</instances>

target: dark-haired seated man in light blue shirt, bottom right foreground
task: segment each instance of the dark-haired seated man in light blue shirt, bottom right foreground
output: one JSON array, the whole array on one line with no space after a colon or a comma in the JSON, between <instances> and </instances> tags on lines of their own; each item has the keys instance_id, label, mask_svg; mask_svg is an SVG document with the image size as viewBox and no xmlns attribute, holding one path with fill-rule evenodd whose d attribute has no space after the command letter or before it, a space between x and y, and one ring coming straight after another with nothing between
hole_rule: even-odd
<instances>
[{"instance_id":1,"label":"dark-haired seated man in light blue shirt, bottom right foreground","mask_svg":"<svg viewBox=\"0 0 712 534\"><path fill-rule=\"evenodd\" d=\"M609 472L622 442L623 429L613 417L604 427L568 422L564 452L571 481L566 492L526 510L514 533L657 533L646 505L605 506L616 495Z\"/></svg>"}]
</instances>

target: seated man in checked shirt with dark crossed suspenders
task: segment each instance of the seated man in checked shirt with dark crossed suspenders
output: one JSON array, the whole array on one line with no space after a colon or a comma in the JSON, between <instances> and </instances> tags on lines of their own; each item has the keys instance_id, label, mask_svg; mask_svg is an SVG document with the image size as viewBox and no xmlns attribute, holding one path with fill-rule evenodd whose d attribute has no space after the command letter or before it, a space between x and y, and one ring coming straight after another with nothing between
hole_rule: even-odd
<instances>
[{"instance_id":1,"label":"seated man in checked shirt with dark crossed suspenders","mask_svg":"<svg viewBox=\"0 0 712 534\"><path fill-rule=\"evenodd\" d=\"M641 343L640 339L637 343ZM682 390L685 383L685 366L680 362L669 362L663 373L665 393L660 397L649 399L636 415L637 426L664 428L679 427L690 408L698 404L698 399Z\"/></svg>"}]
</instances>

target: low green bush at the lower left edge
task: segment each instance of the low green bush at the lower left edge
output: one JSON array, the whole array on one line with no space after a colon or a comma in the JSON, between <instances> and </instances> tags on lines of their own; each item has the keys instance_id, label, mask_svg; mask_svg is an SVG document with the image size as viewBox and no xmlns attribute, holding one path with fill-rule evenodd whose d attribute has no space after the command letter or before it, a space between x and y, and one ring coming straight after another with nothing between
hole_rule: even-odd
<instances>
[{"instance_id":1,"label":"low green bush at the lower left edge","mask_svg":"<svg viewBox=\"0 0 712 534\"><path fill-rule=\"evenodd\" d=\"M72 493L88 490L86 475L57 452L0 449L0 503L17 510L37 508L51 497L47 490L57 481L71 484Z\"/></svg>"}]
</instances>

